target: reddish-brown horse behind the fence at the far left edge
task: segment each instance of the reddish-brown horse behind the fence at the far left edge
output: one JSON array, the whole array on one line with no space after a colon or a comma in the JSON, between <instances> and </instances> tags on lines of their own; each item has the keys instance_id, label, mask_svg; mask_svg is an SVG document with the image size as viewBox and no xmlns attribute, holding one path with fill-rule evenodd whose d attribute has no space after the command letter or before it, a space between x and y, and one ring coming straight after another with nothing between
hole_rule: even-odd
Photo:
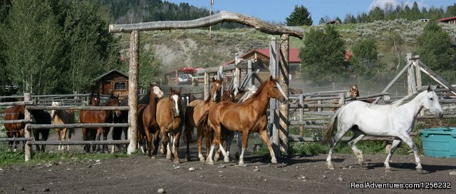
<instances>
[{"instance_id":1,"label":"reddish-brown horse behind the fence at the far left edge","mask_svg":"<svg viewBox=\"0 0 456 194\"><path fill-rule=\"evenodd\" d=\"M6 108L4 119L5 121L24 119L24 106L18 105ZM6 129L6 136L8 136L8 138L24 137L25 123L5 123L4 126ZM14 151L16 151L17 146L19 146L19 141L9 141L8 145L11 150L14 145Z\"/></svg>"}]
</instances>

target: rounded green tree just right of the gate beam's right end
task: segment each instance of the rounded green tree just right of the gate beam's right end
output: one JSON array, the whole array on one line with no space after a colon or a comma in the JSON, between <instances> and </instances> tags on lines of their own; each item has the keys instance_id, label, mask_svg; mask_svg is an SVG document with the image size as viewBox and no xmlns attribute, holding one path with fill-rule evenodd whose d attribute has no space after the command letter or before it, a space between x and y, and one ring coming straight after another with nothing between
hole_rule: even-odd
<instances>
[{"instance_id":1,"label":"rounded green tree just right of the gate beam's right end","mask_svg":"<svg viewBox=\"0 0 456 194\"><path fill-rule=\"evenodd\" d=\"M310 29L304 36L304 48L299 52L304 78L309 78L317 84L331 83L344 78L344 52L344 41L334 26Z\"/></svg>"}]
</instances>

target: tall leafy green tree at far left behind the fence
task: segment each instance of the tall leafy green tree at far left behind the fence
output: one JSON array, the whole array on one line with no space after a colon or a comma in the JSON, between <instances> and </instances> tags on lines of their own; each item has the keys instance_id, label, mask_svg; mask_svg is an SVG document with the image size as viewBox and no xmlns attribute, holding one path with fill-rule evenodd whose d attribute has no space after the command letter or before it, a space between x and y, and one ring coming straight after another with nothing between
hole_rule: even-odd
<instances>
[{"instance_id":1,"label":"tall leafy green tree at far left behind the fence","mask_svg":"<svg viewBox=\"0 0 456 194\"><path fill-rule=\"evenodd\" d=\"M24 92L51 93L63 68L63 38L48 1L12 2L4 32L7 70Z\"/></svg>"}]
</instances>

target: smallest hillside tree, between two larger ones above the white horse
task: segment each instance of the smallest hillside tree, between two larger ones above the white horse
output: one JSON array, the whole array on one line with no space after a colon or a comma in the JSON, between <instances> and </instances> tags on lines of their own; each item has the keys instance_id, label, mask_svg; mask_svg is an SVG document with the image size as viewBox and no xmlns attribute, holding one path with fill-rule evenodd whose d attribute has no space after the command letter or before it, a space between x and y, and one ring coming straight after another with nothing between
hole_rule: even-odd
<instances>
[{"instance_id":1,"label":"smallest hillside tree, between two larger ones above the white horse","mask_svg":"<svg viewBox=\"0 0 456 194\"><path fill-rule=\"evenodd\" d=\"M353 68L355 74L366 80L383 79L385 66L378 61L375 39L363 39L353 45Z\"/></svg>"}]
</instances>

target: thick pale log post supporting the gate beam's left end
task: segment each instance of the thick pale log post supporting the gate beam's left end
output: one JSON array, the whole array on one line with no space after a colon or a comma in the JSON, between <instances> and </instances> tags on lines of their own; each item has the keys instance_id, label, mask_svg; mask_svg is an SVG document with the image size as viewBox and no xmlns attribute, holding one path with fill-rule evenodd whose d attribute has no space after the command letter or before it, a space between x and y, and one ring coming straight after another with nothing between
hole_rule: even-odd
<instances>
[{"instance_id":1,"label":"thick pale log post supporting the gate beam's left end","mask_svg":"<svg viewBox=\"0 0 456 194\"><path fill-rule=\"evenodd\" d=\"M130 67L128 68L128 154L136 151L138 146L138 64L139 64L140 32L135 30L130 33ZM177 78L176 78L177 79Z\"/></svg>"}]
</instances>

